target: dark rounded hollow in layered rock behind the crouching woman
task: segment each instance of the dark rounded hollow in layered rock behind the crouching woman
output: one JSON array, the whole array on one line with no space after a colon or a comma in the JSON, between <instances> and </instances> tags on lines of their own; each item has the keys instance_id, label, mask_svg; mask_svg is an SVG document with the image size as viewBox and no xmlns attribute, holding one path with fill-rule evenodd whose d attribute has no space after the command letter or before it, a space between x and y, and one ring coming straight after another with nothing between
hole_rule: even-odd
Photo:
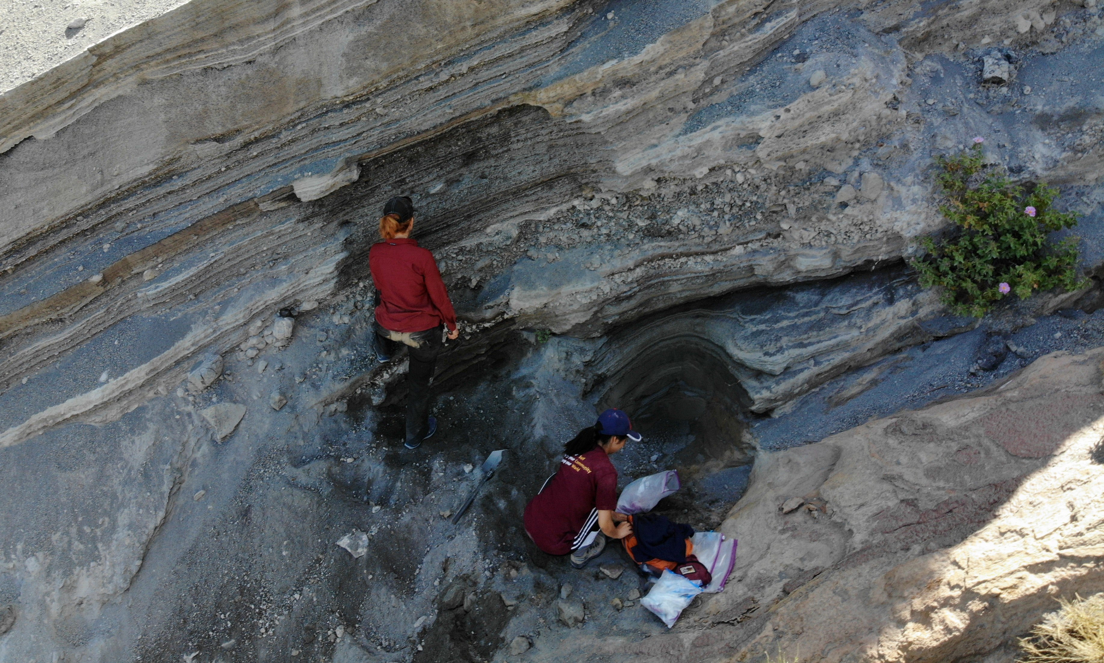
<instances>
[{"instance_id":1,"label":"dark rounded hollow in layered rock behind the crouching woman","mask_svg":"<svg viewBox=\"0 0 1104 663\"><path fill-rule=\"evenodd\" d=\"M599 409L618 407L644 439L614 458L620 483L678 470L682 489L656 509L711 528L747 485L755 449L745 435L747 394L723 347L693 333L647 343L607 342L617 356L593 388ZM617 352L623 349L624 352Z\"/></svg>"}]
</instances>

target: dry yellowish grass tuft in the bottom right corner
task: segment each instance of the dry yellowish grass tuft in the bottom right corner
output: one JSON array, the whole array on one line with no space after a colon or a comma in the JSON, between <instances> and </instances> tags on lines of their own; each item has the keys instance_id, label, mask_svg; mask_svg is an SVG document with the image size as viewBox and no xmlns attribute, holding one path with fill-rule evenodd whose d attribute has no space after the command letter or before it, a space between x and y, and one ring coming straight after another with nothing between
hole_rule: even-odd
<instances>
[{"instance_id":1,"label":"dry yellowish grass tuft in the bottom right corner","mask_svg":"<svg viewBox=\"0 0 1104 663\"><path fill-rule=\"evenodd\" d=\"M1061 603L1020 640L1020 663L1104 663L1104 592Z\"/></svg>"}]
</instances>

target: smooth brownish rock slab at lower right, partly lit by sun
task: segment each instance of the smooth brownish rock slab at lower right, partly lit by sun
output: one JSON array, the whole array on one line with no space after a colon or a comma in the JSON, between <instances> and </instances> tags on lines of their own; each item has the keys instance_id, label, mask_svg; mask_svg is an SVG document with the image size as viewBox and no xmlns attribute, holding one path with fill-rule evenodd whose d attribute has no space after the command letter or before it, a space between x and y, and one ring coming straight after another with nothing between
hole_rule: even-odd
<instances>
[{"instance_id":1,"label":"smooth brownish rock slab at lower right, partly lit by sun","mask_svg":"<svg viewBox=\"0 0 1104 663\"><path fill-rule=\"evenodd\" d=\"M709 634L628 653L1013 661L1057 598L1104 591L1102 360L1055 353L986 394L762 456L722 527L740 544ZM794 495L819 506L779 509Z\"/></svg>"}]
</instances>

